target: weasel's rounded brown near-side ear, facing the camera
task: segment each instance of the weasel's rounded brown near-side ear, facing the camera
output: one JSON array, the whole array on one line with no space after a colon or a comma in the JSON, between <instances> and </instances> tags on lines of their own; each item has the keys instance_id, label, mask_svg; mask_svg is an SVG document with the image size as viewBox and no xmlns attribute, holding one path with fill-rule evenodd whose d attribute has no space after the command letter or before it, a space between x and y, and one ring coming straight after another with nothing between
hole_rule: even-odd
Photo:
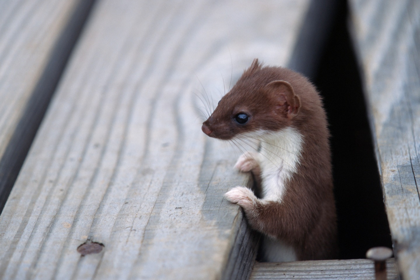
<instances>
[{"instance_id":1,"label":"weasel's rounded brown near-side ear, facing the camera","mask_svg":"<svg viewBox=\"0 0 420 280\"><path fill-rule=\"evenodd\" d=\"M300 98L294 94L293 87L286 81L273 81L265 86L275 95L279 107L285 107L287 116L293 118L300 108Z\"/></svg>"}]
</instances>

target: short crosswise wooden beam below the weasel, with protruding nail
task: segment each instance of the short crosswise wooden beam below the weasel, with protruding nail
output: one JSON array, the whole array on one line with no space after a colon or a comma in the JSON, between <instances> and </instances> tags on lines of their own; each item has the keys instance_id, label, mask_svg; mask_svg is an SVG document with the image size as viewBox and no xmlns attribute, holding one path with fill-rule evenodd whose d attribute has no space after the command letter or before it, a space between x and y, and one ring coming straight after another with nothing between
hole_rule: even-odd
<instances>
[{"instance_id":1,"label":"short crosswise wooden beam below the weasel, with protruding nail","mask_svg":"<svg viewBox=\"0 0 420 280\"><path fill-rule=\"evenodd\" d=\"M395 260L386 261L388 280L398 280ZM368 259L256 263L250 280L329 279L375 280L373 261Z\"/></svg>"}]
</instances>

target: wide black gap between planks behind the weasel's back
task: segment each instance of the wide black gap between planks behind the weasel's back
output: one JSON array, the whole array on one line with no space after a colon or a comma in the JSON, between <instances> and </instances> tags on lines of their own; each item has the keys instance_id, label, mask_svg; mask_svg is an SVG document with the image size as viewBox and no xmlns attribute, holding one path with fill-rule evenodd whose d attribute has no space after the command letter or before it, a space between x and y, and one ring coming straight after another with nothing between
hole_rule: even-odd
<instances>
[{"instance_id":1,"label":"wide black gap between planks behind the weasel's back","mask_svg":"<svg viewBox=\"0 0 420 280\"><path fill-rule=\"evenodd\" d=\"M392 247L357 58L339 1L313 82L324 96L331 131L340 259Z\"/></svg>"}]
</instances>

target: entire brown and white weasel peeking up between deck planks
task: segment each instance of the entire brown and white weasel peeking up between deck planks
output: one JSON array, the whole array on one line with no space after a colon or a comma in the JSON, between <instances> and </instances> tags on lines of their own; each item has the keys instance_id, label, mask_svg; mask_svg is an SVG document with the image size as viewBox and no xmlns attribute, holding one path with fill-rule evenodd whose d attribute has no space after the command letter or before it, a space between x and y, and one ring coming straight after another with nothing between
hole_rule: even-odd
<instances>
[{"instance_id":1,"label":"entire brown and white weasel peeking up between deck planks","mask_svg":"<svg viewBox=\"0 0 420 280\"><path fill-rule=\"evenodd\" d=\"M259 151L239 157L235 167L252 172L261 195L238 186L225 197L242 207L263 234L262 261L336 258L336 207L325 111L315 87L281 67L255 59L222 97L202 131Z\"/></svg>"}]
</instances>

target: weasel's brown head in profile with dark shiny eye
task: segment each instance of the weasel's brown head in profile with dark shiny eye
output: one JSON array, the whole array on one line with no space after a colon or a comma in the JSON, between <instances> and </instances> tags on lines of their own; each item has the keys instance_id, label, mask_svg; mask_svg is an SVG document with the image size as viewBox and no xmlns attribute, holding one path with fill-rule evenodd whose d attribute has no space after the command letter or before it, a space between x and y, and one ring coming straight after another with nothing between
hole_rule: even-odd
<instances>
[{"instance_id":1,"label":"weasel's brown head in profile with dark shiny eye","mask_svg":"<svg viewBox=\"0 0 420 280\"><path fill-rule=\"evenodd\" d=\"M236 85L219 101L202 125L210 137L230 140L247 133L275 132L290 126L300 99L279 67L262 67L254 59Z\"/></svg>"}]
</instances>

